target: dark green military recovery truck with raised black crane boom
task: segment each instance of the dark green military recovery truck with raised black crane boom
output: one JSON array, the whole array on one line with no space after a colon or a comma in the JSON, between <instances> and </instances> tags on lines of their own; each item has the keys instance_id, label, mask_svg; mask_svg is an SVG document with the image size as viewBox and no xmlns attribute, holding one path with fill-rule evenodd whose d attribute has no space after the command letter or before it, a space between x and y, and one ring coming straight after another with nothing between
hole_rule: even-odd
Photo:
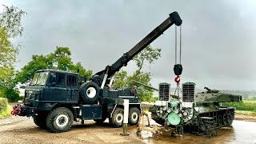
<instances>
[{"instance_id":1,"label":"dark green military recovery truck with raised black crane boom","mask_svg":"<svg viewBox=\"0 0 256 144\"><path fill-rule=\"evenodd\" d=\"M104 122L109 118L112 126L119 127L124 118L123 99L129 99L128 121L130 125L136 124L141 112L136 89L112 90L114 74L172 25L182 25L177 12L171 13L169 18L114 64L106 66L105 70L88 80L78 78L77 73L38 70L30 86L26 88L24 104L14 106L12 114L32 116L37 126L55 133L70 130L74 121L81 120L83 123L89 119Z\"/></svg>"}]
</instances>

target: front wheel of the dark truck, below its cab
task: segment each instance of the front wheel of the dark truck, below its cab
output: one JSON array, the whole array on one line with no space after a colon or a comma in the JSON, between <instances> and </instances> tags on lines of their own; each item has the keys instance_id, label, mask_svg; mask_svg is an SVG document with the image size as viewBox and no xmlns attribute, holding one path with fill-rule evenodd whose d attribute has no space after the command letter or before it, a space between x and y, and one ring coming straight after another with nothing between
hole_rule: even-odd
<instances>
[{"instance_id":1,"label":"front wheel of the dark truck, below its cab","mask_svg":"<svg viewBox=\"0 0 256 144\"><path fill-rule=\"evenodd\" d=\"M51 132L61 133L70 130L73 124L74 116L66 107L58 107L48 114L46 126Z\"/></svg>"}]
</instances>

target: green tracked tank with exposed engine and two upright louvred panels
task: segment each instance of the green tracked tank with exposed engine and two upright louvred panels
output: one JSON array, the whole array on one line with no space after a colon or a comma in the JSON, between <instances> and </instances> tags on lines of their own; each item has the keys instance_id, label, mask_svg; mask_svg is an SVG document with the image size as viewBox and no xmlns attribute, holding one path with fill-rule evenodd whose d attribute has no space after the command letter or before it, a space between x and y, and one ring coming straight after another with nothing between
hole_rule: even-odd
<instances>
[{"instance_id":1,"label":"green tracked tank with exposed engine and two upright louvred panels","mask_svg":"<svg viewBox=\"0 0 256 144\"><path fill-rule=\"evenodd\" d=\"M182 126L188 132L208 132L229 126L234 120L234 107L222 106L222 102L240 102L241 95L224 94L205 87L196 93L196 84L182 84L182 94L170 94L170 84L159 84L159 100L150 108L155 122L169 126ZM217 133L217 130L216 130Z\"/></svg>"}]
</instances>

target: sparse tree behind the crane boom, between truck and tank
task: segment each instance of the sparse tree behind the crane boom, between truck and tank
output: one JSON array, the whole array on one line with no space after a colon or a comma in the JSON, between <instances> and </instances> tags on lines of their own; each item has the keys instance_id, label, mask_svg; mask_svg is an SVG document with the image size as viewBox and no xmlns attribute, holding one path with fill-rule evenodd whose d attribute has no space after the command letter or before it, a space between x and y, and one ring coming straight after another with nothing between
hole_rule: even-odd
<instances>
[{"instance_id":1,"label":"sparse tree behind the crane boom, between truck and tank","mask_svg":"<svg viewBox=\"0 0 256 144\"><path fill-rule=\"evenodd\" d=\"M132 80L142 82L148 86L151 86L151 74L150 72L143 72L143 68L150 68L150 65L154 63L155 60L161 57L161 49L153 49L151 46L146 46L138 55L134 57L134 61L138 70L134 71L134 74L127 75L125 70L122 70L115 74L115 80L113 87L124 89L126 87L137 86L138 96L141 102L153 102L152 98L154 90L147 88L146 86L141 86L137 83L132 82Z\"/></svg>"}]
</instances>

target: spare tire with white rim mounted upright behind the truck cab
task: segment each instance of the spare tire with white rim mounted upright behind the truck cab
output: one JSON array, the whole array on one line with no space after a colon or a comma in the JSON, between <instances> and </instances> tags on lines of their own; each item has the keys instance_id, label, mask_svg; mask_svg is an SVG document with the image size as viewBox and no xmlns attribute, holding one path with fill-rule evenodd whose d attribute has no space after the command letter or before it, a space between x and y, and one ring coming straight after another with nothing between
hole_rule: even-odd
<instances>
[{"instance_id":1,"label":"spare tire with white rim mounted upright behind the truck cab","mask_svg":"<svg viewBox=\"0 0 256 144\"><path fill-rule=\"evenodd\" d=\"M83 102L95 103L99 98L99 87L94 82L86 82L80 86L79 93Z\"/></svg>"}]
</instances>

